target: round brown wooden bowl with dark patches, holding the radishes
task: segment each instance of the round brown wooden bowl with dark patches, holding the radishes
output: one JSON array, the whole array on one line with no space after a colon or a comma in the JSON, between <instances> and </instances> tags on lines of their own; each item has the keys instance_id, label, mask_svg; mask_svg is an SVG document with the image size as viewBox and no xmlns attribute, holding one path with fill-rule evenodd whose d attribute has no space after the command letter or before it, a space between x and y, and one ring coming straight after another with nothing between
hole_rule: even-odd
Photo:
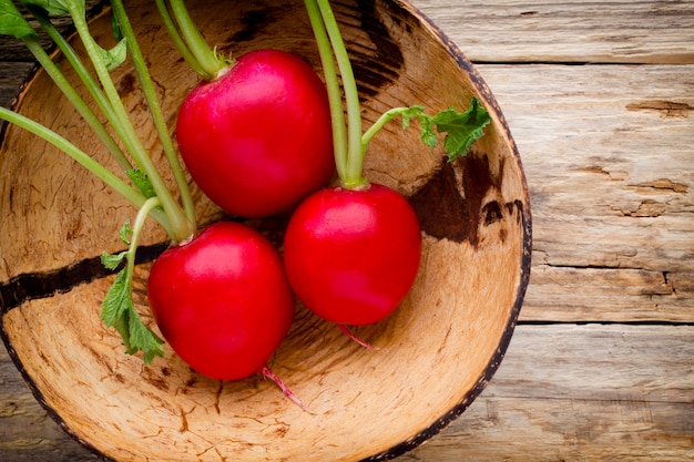
<instances>
[{"instance_id":1,"label":"round brown wooden bowl with dark patches, holding the radishes","mask_svg":"<svg viewBox=\"0 0 694 462\"><path fill-rule=\"evenodd\" d=\"M241 54L273 47L319 70L299 0L191 1L211 43ZM197 82L173 50L151 2L126 2L172 127ZM356 333L367 350L297 306L274 371L312 409L302 411L261 377L218 382L170 349L146 366L126 356L99 319L113 276L99 255L122 248L118 230L135 211L37 137L9 126L0 153L2 338L37 399L70 434L116 461L357 461L395 458L459 415L497 370L516 326L530 268L530 206L504 119L461 52L404 0L346 0L336 16L354 60L368 126L385 110L421 104L491 112L486 135L450 165L417 130L392 123L371 143L367 175L409 197L422 226L416 285L385 321ZM92 21L109 42L108 11ZM60 60L60 58L58 58ZM162 162L132 69L114 72L156 162ZM35 72L14 109L102 162L74 110ZM171 178L170 178L171 179ZM224 215L200 192L202 222ZM286 217L252 223L279 242ZM145 233L135 297L146 307L149 264L166 245Z\"/></svg>"}]
</instances>

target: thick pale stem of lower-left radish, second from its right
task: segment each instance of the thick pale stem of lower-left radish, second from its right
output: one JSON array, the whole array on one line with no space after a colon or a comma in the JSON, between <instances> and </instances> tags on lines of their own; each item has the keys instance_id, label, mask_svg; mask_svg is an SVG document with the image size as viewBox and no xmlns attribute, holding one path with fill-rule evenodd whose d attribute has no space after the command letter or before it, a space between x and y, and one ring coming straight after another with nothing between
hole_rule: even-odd
<instances>
[{"instance_id":1,"label":"thick pale stem of lower-left radish, second from its right","mask_svg":"<svg viewBox=\"0 0 694 462\"><path fill-rule=\"evenodd\" d=\"M125 132L123 143L129 147L130 154L133 156L137 166L147 175L156 196L161 201L162 208L164 209L164 213L170 222L169 229L172 232L170 233L171 238L175 242L186 240L194 234L194 225L174 199L163 178L159 174L154 163L142 145L142 141L137 137L137 133L132 125L132 121L130 120L118 90L111 80L109 70L99 55L99 45L89 33L89 27L83 16L83 8L80 8L79 0L67 0L65 6L70 11L74 28L84 44L84 49L92 61L94 71L104 89L104 93L111 102L111 105L113 106L113 110L123 126Z\"/></svg>"}]
</instances>

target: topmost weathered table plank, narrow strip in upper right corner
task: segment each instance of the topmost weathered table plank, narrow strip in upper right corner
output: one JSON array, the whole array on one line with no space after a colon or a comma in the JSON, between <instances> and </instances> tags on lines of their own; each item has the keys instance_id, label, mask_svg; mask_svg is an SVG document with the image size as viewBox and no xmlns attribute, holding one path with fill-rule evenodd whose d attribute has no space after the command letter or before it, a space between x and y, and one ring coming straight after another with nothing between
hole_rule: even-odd
<instances>
[{"instance_id":1,"label":"topmost weathered table plank, narrow strip in upper right corner","mask_svg":"<svg viewBox=\"0 0 694 462\"><path fill-rule=\"evenodd\" d=\"M691 1L412 3L472 61L694 63Z\"/></svg>"}]
</instances>

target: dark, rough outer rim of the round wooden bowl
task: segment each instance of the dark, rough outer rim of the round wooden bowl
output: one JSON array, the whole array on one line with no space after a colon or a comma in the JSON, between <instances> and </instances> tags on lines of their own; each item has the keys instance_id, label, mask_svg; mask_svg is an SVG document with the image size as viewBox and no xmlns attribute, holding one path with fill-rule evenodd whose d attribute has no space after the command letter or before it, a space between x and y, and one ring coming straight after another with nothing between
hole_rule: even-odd
<instances>
[{"instance_id":1,"label":"dark, rough outer rim of the round wooden bowl","mask_svg":"<svg viewBox=\"0 0 694 462\"><path fill-rule=\"evenodd\" d=\"M389 449L386 449L366 459L361 459L359 462L377 462L377 461L391 460L409 451L412 451L414 449L418 448L419 445L421 445L422 443L425 443L426 441L430 440L431 438L440 433L442 430L445 430L452 421L455 421L458 417L460 417L465 412L465 410L468 409L470 404L472 404L472 402L482 393L482 391L487 388L490 380L492 379L492 377L499 369L499 366L501 365L501 361L503 360L506 356L511 338L513 336L513 331L518 324L520 310L523 305L523 299L524 299L525 291L528 289L528 284L530 280L531 254L532 254L532 213L531 213L531 203L530 203L528 183L527 183L524 171L522 168L522 163L520 158L520 153L518 151L518 146L516 145L516 142L511 135L511 131L508 125L508 122L503 113L501 112L501 109L493 93L491 92L491 90L489 89L484 80L482 79L481 74L473 66L472 62L466 57L466 54L446 34L446 32L443 32L421 10L419 10L408 0L385 0L385 1L387 3L395 4L400 10L404 10L407 14L410 14L417 21L421 22L426 28L428 28L431 38L436 39L439 42L439 44L446 49L448 54L456 60L458 66L462 69L469 75L470 81L472 85L474 86L474 89L480 94L484 95L486 102L489 103L493 107L493 111L499 119L498 127L503 131L506 138L508 140L508 144L511 151L511 157L517 163L519 167L518 172L519 172L519 175L521 176L521 189L522 189L522 198L523 198L523 207L521 209L522 245L521 245L520 268L519 268L520 277L518 279L513 306L509 312L509 318L503 329L503 333L501 335L499 346L497 350L493 352L492 357L490 358L487 367L482 371L482 374L481 377L479 377L476 384L467 393L465 393L460 402L458 402L452 409L450 409L440 418L438 418L432 424L422 429L421 431L419 431L417 434L409 438L408 440L402 441L398 444L395 444L390 446ZM88 11L88 18L89 20L93 20L98 18L99 16L101 16L102 13L108 12L108 10L109 8L105 4L105 2L100 1L90 11ZM65 33L70 35L73 33L73 30L68 29ZM58 53L58 51L53 51L53 53ZM34 63L32 69L29 71L27 76L22 80L21 84L19 85L18 91L16 92L16 95L12 99L11 104L10 104L11 110L16 110L21 104L21 100L22 100L21 96L24 93L25 88L34 80L34 78L37 76L39 72L41 72L41 70L42 68L40 66L40 64ZM7 130L9 125L10 125L9 123L4 123L2 127L0 127L0 146L4 144ZM145 253L150 255L156 255L162 250L162 246L155 245L153 246L152 249L149 249L149 250L150 251L145 251ZM147 258L152 258L152 257L145 256L144 259L147 259ZM90 264L88 263L88 265ZM98 273L98 274L94 274L94 278L99 278L101 273L103 273L103 276L105 276L105 273L103 271L101 265L91 265L91 266ZM3 283L0 286L0 289L4 289L6 286L12 285L13 283L16 283L17 279L20 279L20 278L21 276L11 278L7 283ZM34 399L39 402L39 404L43 408L47 414L50 415L50 418L55 423L58 423L58 425L67 434L69 434L73 440L75 440L83 448L92 452L94 455L99 456L101 460L112 461L111 458L105 455L94 445L84 441L79 434L76 434L63 420L60 413L55 411L50 404L48 404L45 398L43 397L43 393L41 392L39 387L35 384L31 374L24 368L21 359L19 358L19 355L17 353L17 351L14 350L11 343L11 339L9 338L4 329L4 315L8 314L11 309L17 308L19 306L18 304L12 304L12 302L7 304L6 297L7 297L6 290L0 290L0 301L2 301L2 305L0 305L0 338L2 338L2 342L4 343L4 347L8 351L8 356L12 360L14 367L18 369L20 376L22 377L30 392L32 393ZM28 299L30 298L31 297L29 297Z\"/></svg>"}]
</instances>

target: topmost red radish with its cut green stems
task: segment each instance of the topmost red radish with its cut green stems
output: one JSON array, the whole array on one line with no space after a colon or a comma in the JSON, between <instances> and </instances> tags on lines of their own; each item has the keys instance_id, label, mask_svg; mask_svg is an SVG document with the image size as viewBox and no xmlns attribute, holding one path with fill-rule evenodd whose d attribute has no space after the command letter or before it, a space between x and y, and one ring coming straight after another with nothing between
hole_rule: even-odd
<instances>
[{"instance_id":1,"label":"topmost red radish with its cut green stems","mask_svg":"<svg viewBox=\"0 0 694 462\"><path fill-rule=\"evenodd\" d=\"M325 186L335 161L330 109L316 72L279 50L221 58L183 2L170 3L172 17L157 2L164 23L203 79L176 123L181 155L200 188L225 211L255 218L285 212Z\"/></svg>"}]
</instances>

